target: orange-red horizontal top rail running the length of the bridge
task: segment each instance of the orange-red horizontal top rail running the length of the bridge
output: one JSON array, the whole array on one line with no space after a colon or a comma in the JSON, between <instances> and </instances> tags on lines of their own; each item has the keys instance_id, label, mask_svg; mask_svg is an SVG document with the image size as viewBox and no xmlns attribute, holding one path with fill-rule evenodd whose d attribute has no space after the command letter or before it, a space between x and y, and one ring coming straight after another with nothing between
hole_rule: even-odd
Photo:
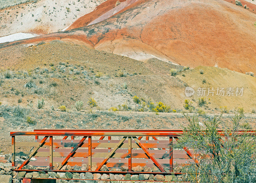
<instances>
[{"instance_id":1,"label":"orange-red horizontal top rail running the length of the bridge","mask_svg":"<svg viewBox=\"0 0 256 183\"><path fill-rule=\"evenodd\" d=\"M218 131L221 136L225 131ZM34 131L12 131L10 136L180 136L182 130L83 130L83 129L36 129ZM250 134L255 136L256 131L237 131L238 134ZM231 135L231 133L230 133Z\"/></svg>"}]
</instances>

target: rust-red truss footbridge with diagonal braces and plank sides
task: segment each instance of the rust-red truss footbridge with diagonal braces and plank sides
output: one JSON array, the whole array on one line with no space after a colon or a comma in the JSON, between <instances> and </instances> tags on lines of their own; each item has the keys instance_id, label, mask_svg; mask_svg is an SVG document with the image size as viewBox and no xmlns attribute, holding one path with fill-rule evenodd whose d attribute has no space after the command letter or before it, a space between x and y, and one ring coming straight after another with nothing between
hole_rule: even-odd
<instances>
[{"instance_id":1,"label":"rust-red truss footbridge with diagonal braces and plank sides","mask_svg":"<svg viewBox=\"0 0 256 183\"><path fill-rule=\"evenodd\" d=\"M46 172L66 172L61 170L64 165L73 167L88 164L88 172L92 173L135 175L142 172L132 171L132 168L140 165L158 170L143 174L179 175L180 172L173 172L177 165L193 161L197 163L196 155L187 147L172 149L172 145L177 143L182 134L182 130L36 129L10 132L12 166L21 164L15 171L40 171L24 169L25 165L32 165L49 166ZM25 156L27 159L15 161L15 156ZM110 171L101 171L103 165ZM128 167L128 171L111 171L122 166Z\"/></svg>"}]
</instances>

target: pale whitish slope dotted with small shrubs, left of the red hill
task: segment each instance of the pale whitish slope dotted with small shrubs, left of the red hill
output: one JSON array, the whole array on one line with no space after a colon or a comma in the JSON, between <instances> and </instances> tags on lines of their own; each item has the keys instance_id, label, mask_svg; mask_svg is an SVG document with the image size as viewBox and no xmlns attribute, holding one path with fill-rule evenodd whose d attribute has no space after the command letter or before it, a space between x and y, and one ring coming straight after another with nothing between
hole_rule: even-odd
<instances>
[{"instance_id":1,"label":"pale whitish slope dotted with small shrubs, left of the red hill","mask_svg":"<svg viewBox=\"0 0 256 183\"><path fill-rule=\"evenodd\" d=\"M18 32L48 34L68 27L104 0L38 0L0 10L0 37Z\"/></svg>"}]
</instances>

